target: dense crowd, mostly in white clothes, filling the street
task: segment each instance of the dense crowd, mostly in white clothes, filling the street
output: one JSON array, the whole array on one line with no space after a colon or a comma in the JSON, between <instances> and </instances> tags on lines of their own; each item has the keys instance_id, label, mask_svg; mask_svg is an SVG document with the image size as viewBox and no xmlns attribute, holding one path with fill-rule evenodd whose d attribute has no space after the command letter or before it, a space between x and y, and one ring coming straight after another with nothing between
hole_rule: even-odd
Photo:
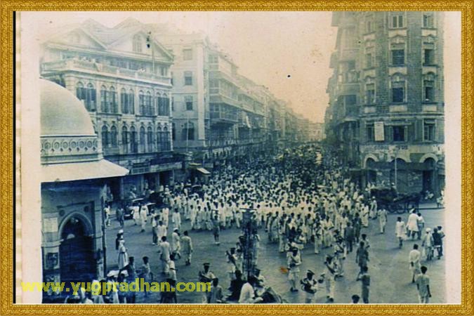
<instances>
[{"instance_id":1,"label":"dense crowd, mostly in white clothes, filling the street","mask_svg":"<svg viewBox=\"0 0 474 316\"><path fill-rule=\"evenodd\" d=\"M422 263L442 257L442 227L425 227L421 213L411 210L406 220L401 216L397 218L395 232L386 232L388 211L378 207L376 199L371 197L370 187L361 188L350 181L348 171L341 167L331 150L301 145L271 157L253 157L213 171L209 181L202 184L201 194L190 192L189 187L185 184L165 187L164 207L152 209L149 215L143 205L134 213L133 220L141 225L142 232L151 225L152 235L148 237L145 232L143 239L157 247L160 270L151 271L147 256L141 258L141 267L135 258L128 256L126 232L122 228L116 239L118 270L110 271L107 280L133 282L136 277L161 278L176 287L179 280L176 262L190 265L194 250L190 231L183 230L183 224L189 222L191 231L209 231L213 236L209 246L218 246L220 232L241 229L243 213L252 210L259 228L254 264L257 267L265 264L258 261L258 248L264 246L263 242L277 244L278 251L287 256L287 265L281 267L281 272L288 278L289 291L301 290L305 303L313 303L323 295L327 303L333 303L336 280L347 277L360 281L361 290L353 294L353 303L369 303L371 282L377 282L371 279L368 268L373 254L364 229L369 225L377 225L381 236L393 234L400 249L407 239L415 241L407 254L406 273L416 284L419 302L429 302L430 277ZM108 207L105 212L110 216ZM203 262L202 270L197 272L197 280L212 284L211 291L203 292L202 303L282 302L281 295L265 283L259 269L251 275L244 271L244 244L239 240L235 242L235 247L226 251L225 272L220 269L214 273L211 263L207 262ZM305 248L312 249L311 258L302 255ZM302 273L303 260L323 261L324 271ZM344 265L348 260L357 263L357 275L345 274ZM229 284L228 293L221 285L224 282ZM83 295L81 301L135 303L136 295L135 292L110 291L103 297ZM162 293L160 302L179 303L175 291Z\"/></svg>"}]
</instances>

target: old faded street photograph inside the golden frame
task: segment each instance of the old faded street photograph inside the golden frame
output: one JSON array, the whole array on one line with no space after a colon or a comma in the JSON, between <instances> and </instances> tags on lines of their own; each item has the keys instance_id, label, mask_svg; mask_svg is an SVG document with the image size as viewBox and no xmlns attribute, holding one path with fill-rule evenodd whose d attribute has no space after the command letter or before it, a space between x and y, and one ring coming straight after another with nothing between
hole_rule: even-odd
<instances>
[{"instance_id":1,"label":"old faded street photograph inside the golden frame","mask_svg":"<svg viewBox=\"0 0 474 316\"><path fill-rule=\"evenodd\" d=\"M22 303L461 303L458 12L16 20Z\"/></svg>"}]
</instances>

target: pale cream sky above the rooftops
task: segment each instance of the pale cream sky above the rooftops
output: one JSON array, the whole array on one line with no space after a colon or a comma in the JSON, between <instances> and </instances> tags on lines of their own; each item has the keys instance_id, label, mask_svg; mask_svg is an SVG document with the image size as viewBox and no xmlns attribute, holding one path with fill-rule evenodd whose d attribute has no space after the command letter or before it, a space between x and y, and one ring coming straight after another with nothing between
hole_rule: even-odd
<instances>
[{"instance_id":1,"label":"pale cream sky above the rooftops","mask_svg":"<svg viewBox=\"0 0 474 316\"><path fill-rule=\"evenodd\" d=\"M166 22L185 32L202 31L228 53L239 73L267 86L296 113L324 121L329 58L336 43L331 12L46 12L40 32L93 18L113 27L126 18ZM47 17L47 18L45 18ZM290 76L290 77L288 77Z\"/></svg>"}]
</instances>

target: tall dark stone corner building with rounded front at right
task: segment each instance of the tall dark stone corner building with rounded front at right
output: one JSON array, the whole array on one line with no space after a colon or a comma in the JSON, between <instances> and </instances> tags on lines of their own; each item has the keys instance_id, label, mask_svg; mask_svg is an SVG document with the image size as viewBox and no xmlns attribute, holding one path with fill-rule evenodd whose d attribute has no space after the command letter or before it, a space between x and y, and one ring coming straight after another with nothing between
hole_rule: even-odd
<instances>
[{"instance_id":1,"label":"tall dark stone corner building with rounded front at right","mask_svg":"<svg viewBox=\"0 0 474 316\"><path fill-rule=\"evenodd\" d=\"M362 185L444 187L443 15L338 12L329 139Z\"/></svg>"}]
</instances>

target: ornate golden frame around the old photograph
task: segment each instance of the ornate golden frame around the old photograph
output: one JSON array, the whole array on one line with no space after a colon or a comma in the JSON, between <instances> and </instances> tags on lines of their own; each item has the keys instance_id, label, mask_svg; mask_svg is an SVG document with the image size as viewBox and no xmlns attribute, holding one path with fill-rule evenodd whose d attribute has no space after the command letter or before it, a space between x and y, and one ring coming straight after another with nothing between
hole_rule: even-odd
<instances>
[{"instance_id":1,"label":"ornate golden frame around the old photograph","mask_svg":"<svg viewBox=\"0 0 474 316\"><path fill-rule=\"evenodd\" d=\"M472 0L0 0L0 315L474 315ZM13 304L13 11L461 11L461 305L20 305ZM470 211L470 210L471 211Z\"/></svg>"}]
</instances>

